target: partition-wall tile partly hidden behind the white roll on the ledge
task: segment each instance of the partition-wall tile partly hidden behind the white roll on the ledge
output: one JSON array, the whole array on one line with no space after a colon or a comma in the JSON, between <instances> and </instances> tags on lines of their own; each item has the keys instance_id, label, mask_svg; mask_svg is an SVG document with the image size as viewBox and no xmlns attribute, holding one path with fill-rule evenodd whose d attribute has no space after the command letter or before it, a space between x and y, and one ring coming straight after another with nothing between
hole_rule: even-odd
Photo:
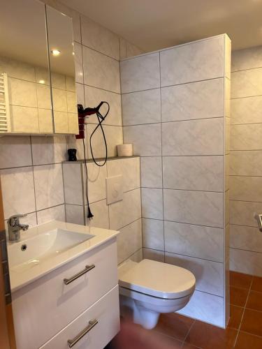
<instances>
[{"instance_id":1,"label":"partition-wall tile partly hidden behind the white roll on the ledge","mask_svg":"<svg viewBox=\"0 0 262 349\"><path fill-rule=\"evenodd\" d=\"M133 153L140 156L161 155L161 124L124 126L124 142L133 143Z\"/></svg>"}]
</instances>

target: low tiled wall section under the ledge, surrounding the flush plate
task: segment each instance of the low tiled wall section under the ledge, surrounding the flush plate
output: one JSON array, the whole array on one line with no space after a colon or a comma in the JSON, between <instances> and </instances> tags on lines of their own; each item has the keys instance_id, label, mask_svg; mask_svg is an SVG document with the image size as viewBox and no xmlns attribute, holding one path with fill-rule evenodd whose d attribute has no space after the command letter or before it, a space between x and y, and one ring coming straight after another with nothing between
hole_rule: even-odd
<instances>
[{"instance_id":1,"label":"low tiled wall section under the ledge, surrounding the flush plate","mask_svg":"<svg viewBox=\"0 0 262 349\"><path fill-rule=\"evenodd\" d=\"M87 188L94 218L91 225L119 230L118 262L142 255L140 158L109 159L105 166L87 163ZM85 164L63 163L66 221L86 224ZM123 200L107 205L105 178L122 175Z\"/></svg>"}]
</instances>

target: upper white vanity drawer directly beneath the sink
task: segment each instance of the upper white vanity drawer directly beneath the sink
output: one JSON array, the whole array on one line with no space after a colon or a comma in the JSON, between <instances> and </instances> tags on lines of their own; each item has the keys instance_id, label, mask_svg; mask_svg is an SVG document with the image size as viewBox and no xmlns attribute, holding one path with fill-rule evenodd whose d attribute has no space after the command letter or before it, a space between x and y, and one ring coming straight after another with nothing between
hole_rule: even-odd
<instances>
[{"instance_id":1,"label":"upper white vanity drawer directly beneath the sink","mask_svg":"<svg viewBox=\"0 0 262 349\"><path fill-rule=\"evenodd\" d=\"M94 269L65 285L85 269ZM115 239L13 293L17 349L36 349L117 285Z\"/></svg>"}]
</instances>

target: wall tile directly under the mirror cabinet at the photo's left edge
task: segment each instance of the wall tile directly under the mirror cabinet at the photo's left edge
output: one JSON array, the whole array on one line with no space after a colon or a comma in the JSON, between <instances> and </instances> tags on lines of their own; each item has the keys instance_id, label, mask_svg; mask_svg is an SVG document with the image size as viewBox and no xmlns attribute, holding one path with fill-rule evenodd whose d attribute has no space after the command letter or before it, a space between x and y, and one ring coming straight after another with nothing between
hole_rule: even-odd
<instances>
[{"instance_id":1,"label":"wall tile directly under the mirror cabinet at the photo's left edge","mask_svg":"<svg viewBox=\"0 0 262 349\"><path fill-rule=\"evenodd\" d=\"M17 151L19 149L19 151ZM30 166L31 144L27 136L6 136L0 138L0 168Z\"/></svg>"}]
</instances>

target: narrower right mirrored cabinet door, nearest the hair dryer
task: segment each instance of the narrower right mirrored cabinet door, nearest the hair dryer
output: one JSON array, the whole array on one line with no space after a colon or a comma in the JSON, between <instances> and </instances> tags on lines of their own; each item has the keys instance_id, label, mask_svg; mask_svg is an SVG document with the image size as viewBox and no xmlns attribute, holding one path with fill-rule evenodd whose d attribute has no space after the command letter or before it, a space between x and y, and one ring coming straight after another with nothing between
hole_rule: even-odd
<instances>
[{"instance_id":1,"label":"narrower right mirrored cabinet door, nearest the hair dryer","mask_svg":"<svg viewBox=\"0 0 262 349\"><path fill-rule=\"evenodd\" d=\"M78 134L73 24L70 17L46 6L54 133Z\"/></svg>"}]
</instances>

